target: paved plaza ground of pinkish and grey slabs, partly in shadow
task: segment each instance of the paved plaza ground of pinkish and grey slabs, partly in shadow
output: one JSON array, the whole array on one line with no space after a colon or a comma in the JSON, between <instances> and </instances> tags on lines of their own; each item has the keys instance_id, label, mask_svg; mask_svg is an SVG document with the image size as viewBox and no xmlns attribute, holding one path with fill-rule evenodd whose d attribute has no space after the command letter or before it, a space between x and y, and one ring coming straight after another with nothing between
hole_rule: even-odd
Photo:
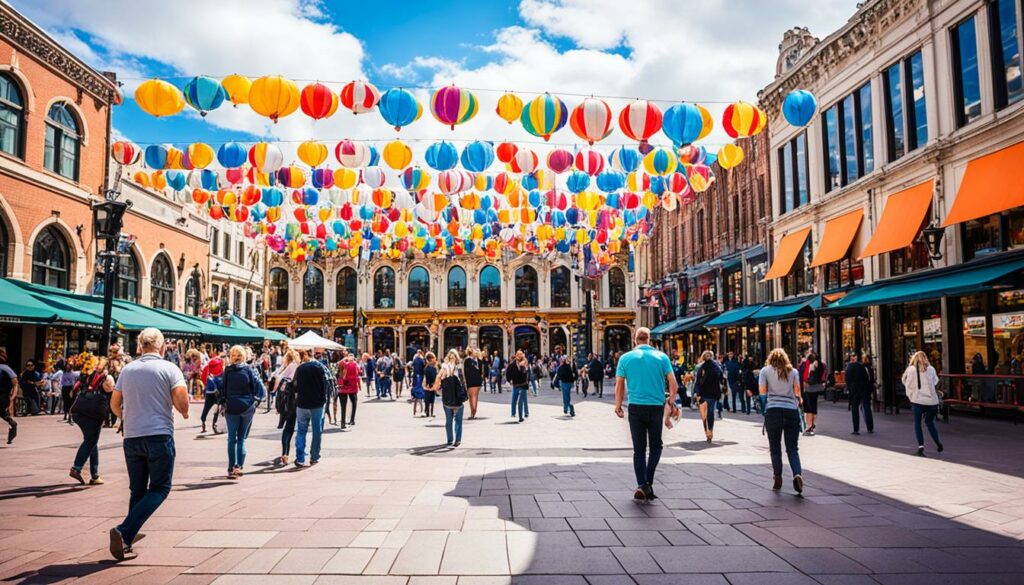
<instances>
[{"instance_id":1,"label":"paved plaza ground of pinkish and grey slabs, partly in shadow","mask_svg":"<svg viewBox=\"0 0 1024 585\"><path fill-rule=\"evenodd\" d=\"M610 392L606 393L606 396ZM629 434L610 398L562 417L550 390L522 425L487 394L449 451L442 419L404 402L359 405L357 425L325 436L321 465L271 465L275 416L258 415L249 472L223 478L223 435L179 420L174 491L138 557L109 559L127 505L120 437L104 431L106 485L67 476L76 427L23 419L0 470L5 583L916 584L1024 582L1021 427L954 418L942 457L908 455L909 416L852 437L823 408L801 440L806 497L769 489L756 417L726 417L712 446L687 413L667 432L639 506ZM500 402L499 402L500 401ZM856 440L856 441L853 441ZM511 577L510 577L511 576Z\"/></svg>"}]
</instances>

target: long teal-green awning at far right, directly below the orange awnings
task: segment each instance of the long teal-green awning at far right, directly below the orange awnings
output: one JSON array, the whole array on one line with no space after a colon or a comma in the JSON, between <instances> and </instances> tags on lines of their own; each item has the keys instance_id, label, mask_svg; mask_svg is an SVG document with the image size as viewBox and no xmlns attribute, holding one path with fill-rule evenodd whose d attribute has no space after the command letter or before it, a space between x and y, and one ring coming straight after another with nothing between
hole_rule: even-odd
<instances>
[{"instance_id":1,"label":"long teal-green awning at far right, directly below the orange awnings","mask_svg":"<svg viewBox=\"0 0 1024 585\"><path fill-rule=\"evenodd\" d=\"M867 285L851 291L824 311L968 295L997 285L1024 285L1024 257L959 264Z\"/></svg>"}]
</instances>

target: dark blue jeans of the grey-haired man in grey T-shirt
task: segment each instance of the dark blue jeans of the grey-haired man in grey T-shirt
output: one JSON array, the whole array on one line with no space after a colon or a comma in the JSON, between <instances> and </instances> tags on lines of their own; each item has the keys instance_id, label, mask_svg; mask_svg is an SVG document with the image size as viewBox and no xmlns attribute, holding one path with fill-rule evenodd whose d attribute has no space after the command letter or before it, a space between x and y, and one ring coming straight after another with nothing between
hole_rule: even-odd
<instances>
[{"instance_id":1,"label":"dark blue jeans of the grey-haired man in grey T-shirt","mask_svg":"<svg viewBox=\"0 0 1024 585\"><path fill-rule=\"evenodd\" d=\"M145 520L164 503L171 493L174 473L174 436L154 434L124 441L125 464L128 467L128 515L118 527L126 544L138 536Z\"/></svg>"}]
</instances>

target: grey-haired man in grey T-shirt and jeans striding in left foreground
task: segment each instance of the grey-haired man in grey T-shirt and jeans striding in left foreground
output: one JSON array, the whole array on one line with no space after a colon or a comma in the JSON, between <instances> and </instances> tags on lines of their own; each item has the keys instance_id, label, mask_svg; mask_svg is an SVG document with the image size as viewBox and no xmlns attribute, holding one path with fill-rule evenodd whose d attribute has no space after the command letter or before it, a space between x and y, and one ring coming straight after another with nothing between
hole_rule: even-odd
<instances>
[{"instance_id":1,"label":"grey-haired man in grey T-shirt and jeans striding in left foreground","mask_svg":"<svg viewBox=\"0 0 1024 585\"><path fill-rule=\"evenodd\" d=\"M141 356L124 366L111 394L111 410L122 418L125 463L131 498L128 515L110 532L110 551L124 560L135 556L132 544L145 520L171 492L174 473L174 415L188 418L188 390L181 370L161 359L164 334L143 329Z\"/></svg>"}]
</instances>

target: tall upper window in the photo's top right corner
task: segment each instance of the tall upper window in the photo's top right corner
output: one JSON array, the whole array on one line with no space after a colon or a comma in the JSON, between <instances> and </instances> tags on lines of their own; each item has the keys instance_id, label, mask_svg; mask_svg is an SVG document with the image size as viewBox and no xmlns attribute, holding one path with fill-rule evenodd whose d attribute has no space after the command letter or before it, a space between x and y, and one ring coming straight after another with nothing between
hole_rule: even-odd
<instances>
[{"instance_id":1,"label":"tall upper window in the photo's top right corner","mask_svg":"<svg viewBox=\"0 0 1024 585\"><path fill-rule=\"evenodd\" d=\"M991 33L992 83L995 109L1001 110L1024 97L1021 67L1020 0L992 0L988 7Z\"/></svg>"}]
</instances>

